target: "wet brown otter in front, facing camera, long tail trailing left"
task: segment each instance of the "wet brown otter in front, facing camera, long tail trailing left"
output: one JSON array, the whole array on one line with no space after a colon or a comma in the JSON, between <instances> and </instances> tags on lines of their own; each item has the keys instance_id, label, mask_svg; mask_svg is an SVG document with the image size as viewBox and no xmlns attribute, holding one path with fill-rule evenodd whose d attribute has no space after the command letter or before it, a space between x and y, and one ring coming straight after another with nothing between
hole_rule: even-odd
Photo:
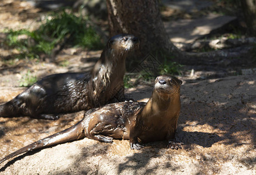
<instances>
[{"instance_id":1,"label":"wet brown otter in front, facing camera, long tail trailing left","mask_svg":"<svg viewBox=\"0 0 256 175\"><path fill-rule=\"evenodd\" d=\"M122 102L93 108L74 126L34 142L0 160L0 163L29 150L45 148L76 139L88 138L112 143L114 139L130 139L130 148L141 149L141 143L168 141L171 149L181 148L173 141L181 102L182 81L174 76L158 76L147 103Z\"/></svg>"}]
</instances>

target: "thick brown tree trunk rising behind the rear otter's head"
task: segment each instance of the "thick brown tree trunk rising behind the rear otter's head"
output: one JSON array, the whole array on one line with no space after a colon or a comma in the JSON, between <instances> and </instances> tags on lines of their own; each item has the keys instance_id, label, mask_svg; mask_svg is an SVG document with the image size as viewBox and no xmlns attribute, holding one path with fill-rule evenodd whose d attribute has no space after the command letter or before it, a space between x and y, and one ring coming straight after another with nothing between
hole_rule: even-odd
<instances>
[{"instance_id":1,"label":"thick brown tree trunk rising behind the rear otter's head","mask_svg":"<svg viewBox=\"0 0 256 175\"><path fill-rule=\"evenodd\" d=\"M140 55L177 50L169 40L158 0L107 0L110 36L130 33L140 38Z\"/></svg>"}]
</instances>

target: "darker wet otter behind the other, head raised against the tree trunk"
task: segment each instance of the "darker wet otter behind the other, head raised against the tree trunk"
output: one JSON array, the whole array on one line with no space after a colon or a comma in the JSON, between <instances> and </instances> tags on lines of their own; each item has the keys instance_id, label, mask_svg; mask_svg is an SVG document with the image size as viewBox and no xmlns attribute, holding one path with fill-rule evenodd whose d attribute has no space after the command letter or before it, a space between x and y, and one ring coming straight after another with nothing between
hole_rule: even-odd
<instances>
[{"instance_id":1,"label":"darker wet otter behind the other, head raised against the tree trunk","mask_svg":"<svg viewBox=\"0 0 256 175\"><path fill-rule=\"evenodd\" d=\"M123 97L123 76L127 54L139 46L132 34L108 40L91 74L65 73L46 76L25 92L0 106L0 117L55 120L57 114L99 107Z\"/></svg>"}]
</instances>

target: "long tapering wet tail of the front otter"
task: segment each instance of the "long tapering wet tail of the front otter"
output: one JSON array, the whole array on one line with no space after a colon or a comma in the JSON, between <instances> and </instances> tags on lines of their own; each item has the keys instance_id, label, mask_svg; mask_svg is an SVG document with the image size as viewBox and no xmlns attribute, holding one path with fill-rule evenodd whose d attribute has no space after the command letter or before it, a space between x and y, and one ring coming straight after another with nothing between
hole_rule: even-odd
<instances>
[{"instance_id":1,"label":"long tapering wet tail of the front otter","mask_svg":"<svg viewBox=\"0 0 256 175\"><path fill-rule=\"evenodd\" d=\"M57 145L58 143L64 143L68 141L74 141L79 138L85 137L84 134L84 124L83 120L79 121L77 124L73 125L72 127L65 129L64 131L58 132L51 136L47 136L46 138L40 139L30 145L23 147L22 149L16 150L15 152L11 153L10 155L4 157L0 160L0 163L4 162L7 159L11 159L12 157L19 155L21 153L25 153L29 150L45 148L51 145Z\"/></svg>"}]
</instances>

